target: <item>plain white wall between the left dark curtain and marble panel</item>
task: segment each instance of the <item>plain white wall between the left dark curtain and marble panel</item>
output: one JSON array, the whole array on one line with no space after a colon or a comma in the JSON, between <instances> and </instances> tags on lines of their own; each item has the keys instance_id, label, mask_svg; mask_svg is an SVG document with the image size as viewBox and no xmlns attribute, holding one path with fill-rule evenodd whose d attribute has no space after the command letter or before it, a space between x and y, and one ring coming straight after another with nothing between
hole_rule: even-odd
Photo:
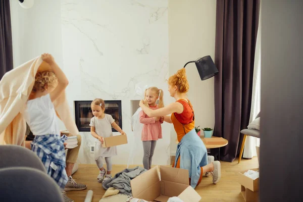
<instances>
[{"instance_id":1,"label":"plain white wall between the left dark curtain and marble panel","mask_svg":"<svg viewBox=\"0 0 303 202\"><path fill-rule=\"evenodd\" d=\"M60 0L39 0L23 9L10 0L14 67L43 53L51 53L62 67Z\"/></svg>"}]
</instances>

